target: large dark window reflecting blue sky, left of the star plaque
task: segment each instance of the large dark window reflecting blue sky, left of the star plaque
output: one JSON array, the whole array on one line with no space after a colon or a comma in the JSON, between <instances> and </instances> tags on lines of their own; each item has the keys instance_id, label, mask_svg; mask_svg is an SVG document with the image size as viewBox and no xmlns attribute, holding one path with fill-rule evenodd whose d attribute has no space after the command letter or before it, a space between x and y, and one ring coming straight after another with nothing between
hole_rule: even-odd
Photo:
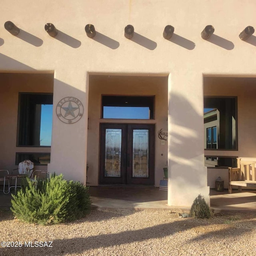
<instances>
[{"instance_id":1,"label":"large dark window reflecting blue sky, left of the star plaque","mask_svg":"<svg viewBox=\"0 0 256 256\"><path fill-rule=\"evenodd\" d=\"M20 93L18 146L51 146L52 94Z\"/></svg>"}]
</instances>

